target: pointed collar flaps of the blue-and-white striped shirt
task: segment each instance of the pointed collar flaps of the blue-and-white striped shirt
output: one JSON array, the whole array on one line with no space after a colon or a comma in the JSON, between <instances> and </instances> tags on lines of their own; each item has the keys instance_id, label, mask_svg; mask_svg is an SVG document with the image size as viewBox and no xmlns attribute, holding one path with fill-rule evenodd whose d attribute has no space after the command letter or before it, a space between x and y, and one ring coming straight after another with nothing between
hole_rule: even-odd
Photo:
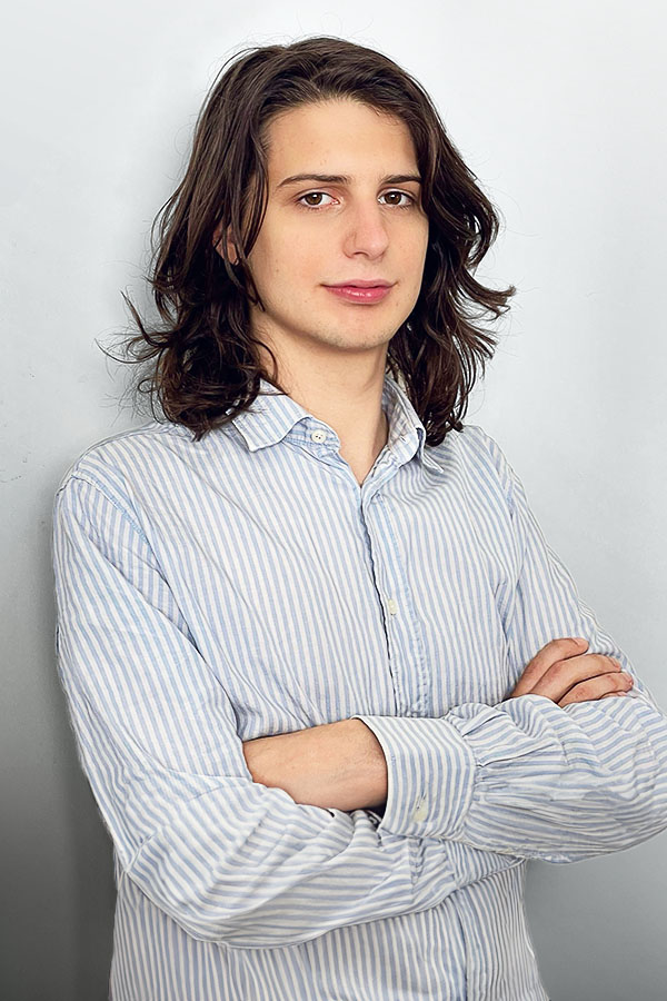
<instances>
[{"instance_id":1,"label":"pointed collar flaps of the blue-and-white striped shirt","mask_svg":"<svg viewBox=\"0 0 667 1001\"><path fill-rule=\"evenodd\" d=\"M382 409L389 424L389 448L404 462L417 454L420 463L439 469L428 452L425 453L424 424L405 390L389 374L385 375L382 385ZM260 378L259 394L250 407L232 417L231 423L250 452L276 445L290 434L305 439L316 428L327 432L330 448L336 452L340 448L340 439L334 428L263 378Z\"/></svg>"}]
</instances>

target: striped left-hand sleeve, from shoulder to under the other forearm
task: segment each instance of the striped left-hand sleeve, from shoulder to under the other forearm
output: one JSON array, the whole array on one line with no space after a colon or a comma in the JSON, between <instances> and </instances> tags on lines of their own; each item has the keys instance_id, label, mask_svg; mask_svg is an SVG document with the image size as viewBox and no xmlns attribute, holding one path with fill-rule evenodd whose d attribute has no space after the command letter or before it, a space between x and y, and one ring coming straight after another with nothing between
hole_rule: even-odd
<instances>
[{"instance_id":1,"label":"striped left-hand sleeve, from shoulder to under the other forearm","mask_svg":"<svg viewBox=\"0 0 667 1001\"><path fill-rule=\"evenodd\" d=\"M233 705L131 503L71 475L53 523L58 672L80 763L122 870L190 935L296 944L521 864L379 833L372 811L297 804L253 782Z\"/></svg>"}]
</instances>

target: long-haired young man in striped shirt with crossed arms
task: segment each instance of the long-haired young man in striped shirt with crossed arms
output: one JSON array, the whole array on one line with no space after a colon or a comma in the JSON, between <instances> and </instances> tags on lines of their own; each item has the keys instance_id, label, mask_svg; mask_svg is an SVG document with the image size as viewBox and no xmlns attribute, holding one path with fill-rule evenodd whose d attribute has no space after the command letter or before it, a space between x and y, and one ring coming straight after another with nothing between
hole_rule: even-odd
<instances>
[{"instance_id":1,"label":"long-haired young man in striped shirt with crossed arms","mask_svg":"<svg viewBox=\"0 0 667 1001\"><path fill-rule=\"evenodd\" d=\"M211 89L133 311L162 419L56 503L115 1001L545 999L527 860L667 826L667 718L461 422L496 231L386 57Z\"/></svg>"}]
</instances>

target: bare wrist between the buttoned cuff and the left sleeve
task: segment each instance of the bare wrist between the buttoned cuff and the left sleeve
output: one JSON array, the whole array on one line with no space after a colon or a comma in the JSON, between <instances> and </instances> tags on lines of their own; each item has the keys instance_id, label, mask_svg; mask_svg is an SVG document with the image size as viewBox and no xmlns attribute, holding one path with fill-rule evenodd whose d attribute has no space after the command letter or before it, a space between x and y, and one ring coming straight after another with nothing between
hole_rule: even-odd
<instances>
[{"instance_id":1,"label":"bare wrist between the buttoned cuff and the left sleeve","mask_svg":"<svg viewBox=\"0 0 667 1001\"><path fill-rule=\"evenodd\" d=\"M387 800L387 762L361 720L245 741L255 782L283 789L296 803L337 810L378 809Z\"/></svg>"}]
</instances>

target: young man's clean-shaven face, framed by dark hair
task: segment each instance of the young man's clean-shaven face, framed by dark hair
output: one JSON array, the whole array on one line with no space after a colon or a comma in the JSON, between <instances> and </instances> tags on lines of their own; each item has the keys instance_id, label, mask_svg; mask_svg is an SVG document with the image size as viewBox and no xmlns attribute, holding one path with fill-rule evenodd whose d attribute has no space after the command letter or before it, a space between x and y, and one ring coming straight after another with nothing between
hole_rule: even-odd
<instances>
[{"instance_id":1,"label":"young man's clean-shaven face, framed by dark hair","mask_svg":"<svg viewBox=\"0 0 667 1001\"><path fill-rule=\"evenodd\" d=\"M352 100L292 108L268 126L268 187L249 255L266 310L251 307L252 331L279 360L305 345L386 355L428 246L407 126Z\"/></svg>"}]
</instances>

